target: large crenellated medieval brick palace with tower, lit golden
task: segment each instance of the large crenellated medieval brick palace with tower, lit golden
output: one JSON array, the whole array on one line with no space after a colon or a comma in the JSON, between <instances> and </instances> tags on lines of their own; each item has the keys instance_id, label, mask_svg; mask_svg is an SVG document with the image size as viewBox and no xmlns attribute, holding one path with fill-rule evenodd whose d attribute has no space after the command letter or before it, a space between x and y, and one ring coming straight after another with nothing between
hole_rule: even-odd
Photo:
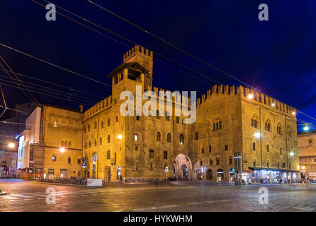
<instances>
[{"instance_id":1,"label":"large crenellated medieval brick palace with tower, lit golden","mask_svg":"<svg viewBox=\"0 0 316 226\"><path fill-rule=\"evenodd\" d=\"M214 85L197 100L194 124L183 124L183 117L174 116L174 99L169 117L167 112L123 117L122 91L135 93L141 85L142 92L152 90L158 96L162 90L152 87L152 60L148 49L130 49L123 64L109 74L112 95L84 112L87 177L234 181L234 153L239 152L247 182L298 179L295 109L249 88Z\"/></svg>"}]
</instances>

